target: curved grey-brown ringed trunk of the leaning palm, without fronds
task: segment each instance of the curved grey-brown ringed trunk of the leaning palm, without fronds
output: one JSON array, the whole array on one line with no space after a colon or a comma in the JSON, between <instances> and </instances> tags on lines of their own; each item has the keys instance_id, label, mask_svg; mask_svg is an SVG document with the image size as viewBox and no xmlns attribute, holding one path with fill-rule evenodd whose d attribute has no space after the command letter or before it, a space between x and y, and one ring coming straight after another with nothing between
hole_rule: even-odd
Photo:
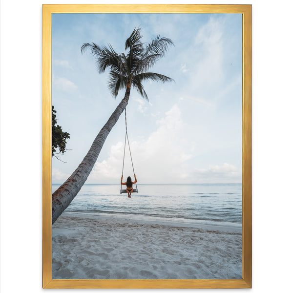
<instances>
[{"instance_id":1,"label":"curved grey-brown ringed trunk of the leaning palm, without fronds","mask_svg":"<svg viewBox=\"0 0 293 293\"><path fill-rule=\"evenodd\" d=\"M89 173L94 167L100 151L105 143L105 140L111 131L112 127L118 121L119 116L126 108L130 94L130 87L126 88L126 93L124 99L117 106L113 114L110 116L107 123L100 130L99 134L95 138L92 146L87 152L82 163L77 167L77 169L72 173L72 175L63 183L63 185L58 188L52 194L52 224L57 220L57 218L62 214L64 209L66 209L77 193L80 191L84 182L86 181Z\"/></svg>"}]
</instances>

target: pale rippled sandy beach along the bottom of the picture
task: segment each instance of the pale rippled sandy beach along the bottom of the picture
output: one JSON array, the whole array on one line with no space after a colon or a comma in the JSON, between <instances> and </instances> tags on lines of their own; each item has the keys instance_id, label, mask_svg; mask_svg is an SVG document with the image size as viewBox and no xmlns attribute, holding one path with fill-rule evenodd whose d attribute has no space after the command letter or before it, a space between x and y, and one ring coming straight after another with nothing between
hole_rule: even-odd
<instances>
[{"instance_id":1,"label":"pale rippled sandy beach along the bottom of the picture","mask_svg":"<svg viewBox=\"0 0 293 293\"><path fill-rule=\"evenodd\" d=\"M242 277L241 230L187 226L64 212L52 227L52 277Z\"/></svg>"}]
</instances>

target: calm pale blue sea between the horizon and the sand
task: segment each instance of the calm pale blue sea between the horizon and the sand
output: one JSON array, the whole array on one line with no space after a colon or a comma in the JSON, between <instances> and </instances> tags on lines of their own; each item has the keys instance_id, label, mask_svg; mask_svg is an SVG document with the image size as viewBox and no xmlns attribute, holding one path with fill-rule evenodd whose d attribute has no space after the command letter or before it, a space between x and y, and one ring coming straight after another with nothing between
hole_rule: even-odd
<instances>
[{"instance_id":1,"label":"calm pale blue sea between the horizon and the sand","mask_svg":"<svg viewBox=\"0 0 293 293\"><path fill-rule=\"evenodd\" d=\"M52 192L60 185L53 184ZM66 211L185 223L240 225L241 184L140 184L120 194L120 185L84 184Z\"/></svg>"}]
</instances>

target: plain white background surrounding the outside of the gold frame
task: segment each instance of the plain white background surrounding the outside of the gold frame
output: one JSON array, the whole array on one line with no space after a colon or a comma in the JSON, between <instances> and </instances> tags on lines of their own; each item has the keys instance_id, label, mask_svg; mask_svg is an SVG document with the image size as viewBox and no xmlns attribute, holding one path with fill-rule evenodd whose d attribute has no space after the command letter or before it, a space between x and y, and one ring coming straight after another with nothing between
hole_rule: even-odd
<instances>
[{"instance_id":1,"label":"plain white background surrounding the outside of the gold frame","mask_svg":"<svg viewBox=\"0 0 293 293\"><path fill-rule=\"evenodd\" d=\"M292 292L293 5L205 2L252 4L251 291ZM2 0L1 292L41 291L42 1Z\"/></svg>"}]
</instances>

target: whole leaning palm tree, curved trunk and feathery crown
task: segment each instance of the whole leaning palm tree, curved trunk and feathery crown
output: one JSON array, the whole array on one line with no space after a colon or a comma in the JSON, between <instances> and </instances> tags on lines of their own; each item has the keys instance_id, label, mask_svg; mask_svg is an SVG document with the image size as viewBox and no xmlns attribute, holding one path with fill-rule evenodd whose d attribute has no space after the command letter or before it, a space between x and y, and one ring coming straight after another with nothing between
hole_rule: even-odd
<instances>
[{"instance_id":1,"label":"whole leaning palm tree, curved trunk and feathery crown","mask_svg":"<svg viewBox=\"0 0 293 293\"><path fill-rule=\"evenodd\" d=\"M126 88L126 92L123 100L95 138L82 163L63 185L52 194L52 224L62 214L63 210L68 207L84 185L94 167L106 137L126 108L131 86L136 88L141 96L148 101L142 84L143 81L152 80L162 83L173 81L165 75L147 72L156 61L165 55L168 46L173 45L173 42L170 39L161 38L159 35L146 45L141 39L140 28L134 29L125 42L125 49L128 50L127 54L117 54L111 45L101 47L95 43L84 43L81 47L82 53L86 49L90 49L91 54L96 59L99 73L105 72L106 68L109 69L108 88L112 95L117 97L119 90L123 88Z\"/></svg>"}]
</instances>

